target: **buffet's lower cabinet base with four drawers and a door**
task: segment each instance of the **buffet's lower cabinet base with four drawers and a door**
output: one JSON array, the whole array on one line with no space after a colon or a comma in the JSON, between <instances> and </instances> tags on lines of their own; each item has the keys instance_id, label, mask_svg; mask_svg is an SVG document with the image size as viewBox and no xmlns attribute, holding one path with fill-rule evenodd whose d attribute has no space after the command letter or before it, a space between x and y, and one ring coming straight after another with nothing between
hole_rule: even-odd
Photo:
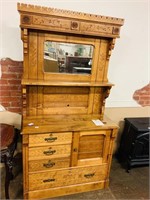
<instances>
[{"instance_id":1,"label":"buffet's lower cabinet base with four drawers and a door","mask_svg":"<svg viewBox=\"0 0 150 200\"><path fill-rule=\"evenodd\" d=\"M24 199L108 186L117 127L23 135Z\"/></svg>"}]
</instances>

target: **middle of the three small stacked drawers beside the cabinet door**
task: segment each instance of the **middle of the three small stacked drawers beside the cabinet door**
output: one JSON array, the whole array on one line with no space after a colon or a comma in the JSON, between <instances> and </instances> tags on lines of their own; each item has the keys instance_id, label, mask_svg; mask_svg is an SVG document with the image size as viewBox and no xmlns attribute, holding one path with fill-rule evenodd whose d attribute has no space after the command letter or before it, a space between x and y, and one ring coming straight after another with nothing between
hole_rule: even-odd
<instances>
[{"instance_id":1,"label":"middle of the three small stacked drawers beside the cabinet door","mask_svg":"<svg viewBox=\"0 0 150 200\"><path fill-rule=\"evenodd\" d=\"M71 144L29 148L29 160L70 156Z\"/></svg>"}]
</instances>

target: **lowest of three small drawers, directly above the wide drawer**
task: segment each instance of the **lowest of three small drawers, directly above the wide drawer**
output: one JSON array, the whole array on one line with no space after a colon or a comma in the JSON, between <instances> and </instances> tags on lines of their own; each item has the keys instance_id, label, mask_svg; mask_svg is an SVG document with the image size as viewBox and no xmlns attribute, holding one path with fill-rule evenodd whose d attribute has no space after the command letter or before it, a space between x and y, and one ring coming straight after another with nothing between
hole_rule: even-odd
<instances>
[{"instance_id":1,"label":"lowest of three small drawers, directly above the wide drawer","mask_svg":"<svg viewBox=\"0 0 150 200\"><path fill-rule=\"evenodd\" d=\"M29 172L67 168L70 157L29 161Z\"/></svg>"}]
</instances>

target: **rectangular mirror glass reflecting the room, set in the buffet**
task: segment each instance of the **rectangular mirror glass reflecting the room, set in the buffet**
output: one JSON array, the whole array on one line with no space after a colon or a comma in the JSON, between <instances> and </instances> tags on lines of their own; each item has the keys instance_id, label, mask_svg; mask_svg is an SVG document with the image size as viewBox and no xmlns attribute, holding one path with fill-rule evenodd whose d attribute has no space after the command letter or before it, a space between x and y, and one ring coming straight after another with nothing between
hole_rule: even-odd
<instances>
[{"instance_id":1,"label":"rectangular mirror glass reflecting the room, set in the buffet","mask_svg":"<svg viewBox=\"0 0 150 200\"><path fill-rule=\"evenodd\" d=\"M91 74L93 46L44 42L44 72Z\"/></svg>"}]
</instances>

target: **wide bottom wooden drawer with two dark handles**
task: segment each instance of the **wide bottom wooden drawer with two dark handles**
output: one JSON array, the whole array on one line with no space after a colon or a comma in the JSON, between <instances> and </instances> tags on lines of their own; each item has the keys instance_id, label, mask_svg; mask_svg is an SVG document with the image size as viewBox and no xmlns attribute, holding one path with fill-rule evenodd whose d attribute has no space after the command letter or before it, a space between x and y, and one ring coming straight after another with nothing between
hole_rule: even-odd
<instances>
[{"instance_id":1,"label":"wide bottom wooden drawer with two dark handles","mask_svg":"<svg viewBox=\"0 0 150 200\"><path fill-rule=\"evenodd\" d=\"M107 164L29 174L30 191L105 180Z\"/></svg>"}]
</instances>

